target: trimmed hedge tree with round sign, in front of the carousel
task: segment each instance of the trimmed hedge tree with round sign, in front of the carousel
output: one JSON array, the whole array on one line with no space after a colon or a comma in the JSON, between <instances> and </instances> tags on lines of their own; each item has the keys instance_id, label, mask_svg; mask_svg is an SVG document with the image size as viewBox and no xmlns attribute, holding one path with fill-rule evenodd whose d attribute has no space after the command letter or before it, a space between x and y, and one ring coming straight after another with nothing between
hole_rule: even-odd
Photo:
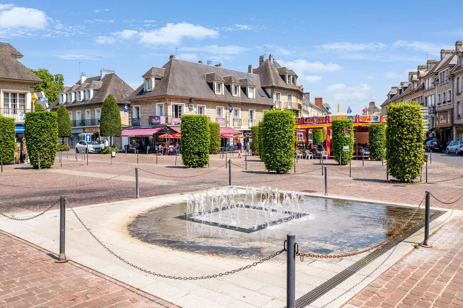
<instances>
[{"instance_id":1,"label":"trimmed hedge tree with round sign, in front of the carousel","mask_svg":"<svg viewBox=\"0 0 463 308\"><path fill-rule=\"evenodd\" d=\"M344 130L349 129L349 134ZM349 151L344 151L344 146L349 146ZM331 123L331 155L341 165L349 164L354 154L354 125L352 120L333 119Z\"/></svg>"}]
</instances>

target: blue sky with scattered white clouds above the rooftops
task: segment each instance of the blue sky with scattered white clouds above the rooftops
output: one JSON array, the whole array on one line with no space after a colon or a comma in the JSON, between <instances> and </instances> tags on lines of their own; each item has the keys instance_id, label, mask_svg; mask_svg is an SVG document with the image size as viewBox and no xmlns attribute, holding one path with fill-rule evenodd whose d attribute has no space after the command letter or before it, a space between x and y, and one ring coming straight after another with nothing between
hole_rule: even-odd
<instances>
[{"instance_id":1,"label":"blue sky with scattered white clouds above the rooftops","mask_svg":"<svg viewBox=\"0 0 463 308\"><path fill-rule=\"evenodd\" d=\"M63 74L66 85L79 78L79 62L88 77L103 66L136 88L175 52L240 71L271 53L294 69L312 101L322 96L334 112L339 103L360 113L463 38L451 11L461 1L376 2L8 2L0 4L0 40L23 53L26 66Z\"/></svg>"}]
</instances>

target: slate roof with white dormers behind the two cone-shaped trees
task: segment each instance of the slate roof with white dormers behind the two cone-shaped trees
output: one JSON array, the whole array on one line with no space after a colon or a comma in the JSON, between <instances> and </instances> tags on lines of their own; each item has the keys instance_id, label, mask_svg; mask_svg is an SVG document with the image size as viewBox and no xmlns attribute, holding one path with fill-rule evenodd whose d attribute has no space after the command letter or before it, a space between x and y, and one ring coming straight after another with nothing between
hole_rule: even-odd
<instances>
[{"instance_id":1,"label":"slate roof with white dormers behind the two cone-shaped trees","mask_svg":"<svg viewBox=\"0 0 463 308\"><path fill-rule=\"evenodd\" d=\"M66 107L71 106L80 106L80 105L89 105L95 103L103 103L106 99L106 96L109 94L113 94L114 99L118 104L127 104L125 99L133 92L131 86L126 84L124 80L122 80L118 75L115 73L106 74L102 80L100 80L100 76L89 77L81 84L81 80L77 81L74 86L66 86L60 92L71 92L76 91L79 89L85 88L99 88L98 92L94 93L92 99L84 99L81 101L74 100L72 103L64 103ZM127 90L129 93L125 93L124 90ZM59 99L53 102L51 105L51 109L56 109L58 107Z\"/></svg>"}]
</instances>

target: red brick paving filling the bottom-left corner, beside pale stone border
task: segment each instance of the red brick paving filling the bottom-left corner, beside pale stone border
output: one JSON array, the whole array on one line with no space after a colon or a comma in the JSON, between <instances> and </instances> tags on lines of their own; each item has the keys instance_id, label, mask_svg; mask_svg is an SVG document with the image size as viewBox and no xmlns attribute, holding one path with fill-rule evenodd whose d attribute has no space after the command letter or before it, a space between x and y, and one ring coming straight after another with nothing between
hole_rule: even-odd
<instances>
[{"instance_id":1,"label":"red brick paving filling the bottom-left corner, beside pale stone border","mask_svg":"<svg viewBox=\"0 0 463 308\"><path fill-rule=\"evenodd\" d=\"M0 307L177 307L0 232ZM158 303L156 303L158 302Z\"/></svg>"}]
</instances>

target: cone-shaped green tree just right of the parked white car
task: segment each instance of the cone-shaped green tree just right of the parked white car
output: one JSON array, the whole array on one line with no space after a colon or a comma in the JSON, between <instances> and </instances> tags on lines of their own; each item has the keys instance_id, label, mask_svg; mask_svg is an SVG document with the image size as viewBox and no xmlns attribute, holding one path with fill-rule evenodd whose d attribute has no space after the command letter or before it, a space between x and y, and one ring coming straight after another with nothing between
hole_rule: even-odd
<instances>
[{"instance_id":1,"label":"cone-shaped green tree just right of the parked white car","mask_svg":"<svg viewBox=\"0 0 463 308\"><path fill-rule=\"evenodd\" d=\"M113 145L113 136L120 136L121 133L122 123L119 106L114 96L109 94L101 107L100 136L111 137L110 145Z\"/></svg>"}]
</instances>

